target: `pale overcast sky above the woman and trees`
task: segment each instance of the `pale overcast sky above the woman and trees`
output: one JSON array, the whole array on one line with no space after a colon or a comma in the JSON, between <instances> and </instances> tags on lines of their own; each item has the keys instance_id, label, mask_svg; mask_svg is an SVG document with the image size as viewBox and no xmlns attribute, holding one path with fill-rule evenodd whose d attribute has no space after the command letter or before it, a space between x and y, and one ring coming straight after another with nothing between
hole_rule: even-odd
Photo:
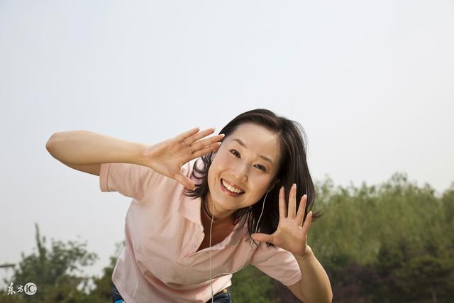
<instances>
[{"instance_id":1,"label":"pale overcast sky above the woman and trees","mask_svg":"<svg viewBox=\"0 0 454 303\"><path fill-rule=\"evenodd\" d=\"M0 0L0 263L32 252L35 222L88 241L90 274L124 238L131 199L52 158L58 131L151 144L267 108L304 127L314 180L443 192L453 32L454 1Z\"/></svg>"}]
</instances>

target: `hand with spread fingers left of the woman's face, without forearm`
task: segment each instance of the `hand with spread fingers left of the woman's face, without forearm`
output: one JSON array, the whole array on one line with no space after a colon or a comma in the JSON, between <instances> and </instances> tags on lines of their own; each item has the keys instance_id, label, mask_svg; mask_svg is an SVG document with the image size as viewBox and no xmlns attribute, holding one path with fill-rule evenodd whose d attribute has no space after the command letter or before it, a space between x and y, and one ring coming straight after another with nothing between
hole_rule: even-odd
<instances>
[{"instance_id":1,"label":"hand with spread fingers left of the woman's face, without forearm","mask_svg":"<svg viewBox=\"0 0 454 303\"><path fill-rule=\"evenodd\" d=\"M198 127L192 128L175 138L149 145L140 153L140 162L161 175L177 180L187 189L194 189L194 182L181 172L182 165L218 150L223 134L204 138L213 133L214 129L199 131Z\"/></svg>"}]
</instances>

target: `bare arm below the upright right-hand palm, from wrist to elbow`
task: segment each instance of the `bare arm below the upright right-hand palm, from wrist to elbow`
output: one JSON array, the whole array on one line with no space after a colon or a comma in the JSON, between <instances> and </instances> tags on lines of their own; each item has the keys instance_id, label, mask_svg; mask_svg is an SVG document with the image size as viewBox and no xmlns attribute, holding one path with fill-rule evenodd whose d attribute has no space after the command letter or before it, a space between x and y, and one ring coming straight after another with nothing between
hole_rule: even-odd
<instances>
[{"instance_id":1,"label":"bare arm below the upright right-hand palm, from wrist to elbow","mask_svg":"<svg viewBox=\"0 0 454 303\"><path fill-rule=\"evenodd\" d=\"M331 303L333 301L331 283L312 249L309 247L306 254L302 256L294 254L294 257L301 270L301 280L290 285L289 290L304 303Z\"/></svg>"}]
</instances>

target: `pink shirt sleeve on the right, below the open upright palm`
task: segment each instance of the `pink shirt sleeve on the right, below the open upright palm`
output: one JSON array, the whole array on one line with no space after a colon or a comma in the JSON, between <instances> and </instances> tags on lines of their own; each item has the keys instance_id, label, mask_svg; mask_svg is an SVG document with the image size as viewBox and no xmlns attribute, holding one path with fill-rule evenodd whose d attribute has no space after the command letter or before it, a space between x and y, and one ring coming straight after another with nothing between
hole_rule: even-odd
<instances>
[{"instance_id":1,"label":"pink shirt sleeve on the right, below the open upright palm","mask_svg":"<svg viewBox=\"0 0 454 303\"><path fill-rule=\"evenodd\" d=\"M260 243L250 264L285 286L294 285L301 280L297 259L289 251L277 246L267 247L266 243Z\"/></svg>"}]
</instances>

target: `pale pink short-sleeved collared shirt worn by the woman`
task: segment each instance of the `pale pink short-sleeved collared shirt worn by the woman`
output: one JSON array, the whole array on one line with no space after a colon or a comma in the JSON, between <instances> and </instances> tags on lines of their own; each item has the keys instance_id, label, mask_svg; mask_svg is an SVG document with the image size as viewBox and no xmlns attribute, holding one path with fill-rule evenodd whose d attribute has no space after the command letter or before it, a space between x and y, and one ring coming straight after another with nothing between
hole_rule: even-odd
<instances>
[{"instance_id":1,"label":"pale pink short-sleeved collared shirt worn by the woman","mask_svg":"<svg viewBox=\"0 0 454 303\"><path fill-rule=\"evenodd\" d=\"M195 162L184 164L182 172L199 182L192 176ZM125 220L125 247L112 275L121 297L127 303L204 303L211 299L210 248L196 252L205 236L201 199L184 196L182 184L142 165L103 163L99 184L102 192L119 192L132 198ZM250 242L247 224L239 228L240 223L211 247L211 275L235 272L243 265ZM301 279L292 253L267 248L265 243L258 248L253 244L245 267L248 264L286 286ZM212 279L213 293L230 286L231 277L218 275Z\"/></svg>"}]
</instances>

